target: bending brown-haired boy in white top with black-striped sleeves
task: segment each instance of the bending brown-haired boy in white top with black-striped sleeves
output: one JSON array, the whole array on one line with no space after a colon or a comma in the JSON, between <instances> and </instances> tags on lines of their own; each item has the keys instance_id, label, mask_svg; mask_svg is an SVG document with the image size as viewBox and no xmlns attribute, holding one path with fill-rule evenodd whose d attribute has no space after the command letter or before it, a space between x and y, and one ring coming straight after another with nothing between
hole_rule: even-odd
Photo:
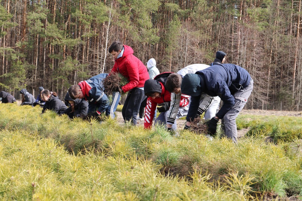
<instances>
[{"instance_id":1,"label":"bending brown-haired boy in white top with black-striped sleeves","mask_svg":"<svg viewBox=\"0 0 302 201\"><path fill-rule=\"evenodd\" d=\"M168 111L166 125L168 130L171 130L171 127L175 122L175 118L180 105L180 100L182 96L180 86L182 84L182 78L188 73L195 73L197 71L204 70L208 67L210 66L206 64L191 64L186 66L185 68L182 68L177 73L172 73L168 76L165 82L165 89L171 93L171 107ZM205 120L215 117L217 108L219 107L219 102L220 98L218 96L213 97L207 95L206 93L202 93L196 116L200 116L202 113L204 113ZM185 126L185 129L188 129L188 127Z\"/></svg>"}]
</instances>

